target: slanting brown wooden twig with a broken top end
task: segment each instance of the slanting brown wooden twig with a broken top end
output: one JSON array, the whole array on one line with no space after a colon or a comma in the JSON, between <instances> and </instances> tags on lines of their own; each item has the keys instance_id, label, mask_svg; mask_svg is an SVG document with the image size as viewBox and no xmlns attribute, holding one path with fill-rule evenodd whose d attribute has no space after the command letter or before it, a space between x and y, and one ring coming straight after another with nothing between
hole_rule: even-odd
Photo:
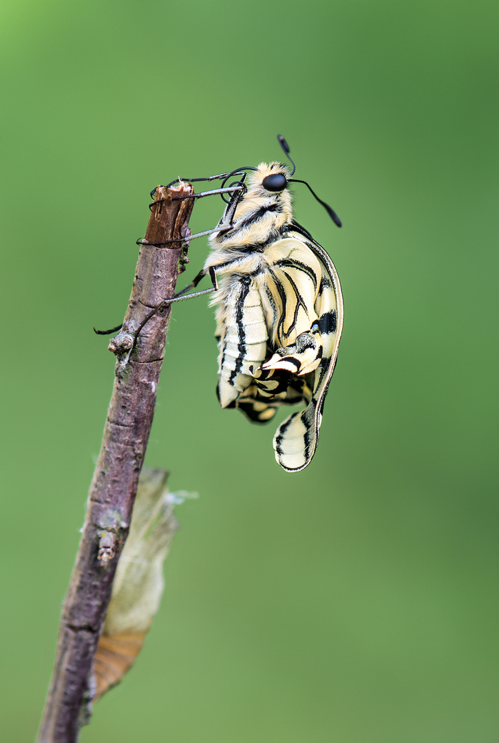
<instances>
[{"instance_id":1,"label":"slanting brown wooden twig with a broken top end","mask_svg":"<svg viewBox=\"0 0 499 743\"><path fill-rule=\"evenodd\" d=\"M190 184L168 190L158 186L146 241L159 243L190 234L187 224L194 200L172 197L192 192ZM153 310L173 296L182 250L181 242L141 246L123 328L109 344L117 355L115 385L80 548L62 605L54 675L38 743L73 743L91 713L94 653L129 531L170 320L170 306Z\"/></svg>"}]
</instances>

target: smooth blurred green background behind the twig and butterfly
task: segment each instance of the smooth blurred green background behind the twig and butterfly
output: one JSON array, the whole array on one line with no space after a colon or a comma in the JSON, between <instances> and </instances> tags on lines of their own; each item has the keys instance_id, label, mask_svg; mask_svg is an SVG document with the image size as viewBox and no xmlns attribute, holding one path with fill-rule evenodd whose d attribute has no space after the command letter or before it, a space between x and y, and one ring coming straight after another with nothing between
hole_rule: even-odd
<instances>
[{"instance_id":1,"label":"smooth blurred green background behind the twig and butterfly","mask_svg":"<svg viewBox=\"0 0 499 743\"><path fill-rule=\"evenodd\" d=\"M318 452L284 473L219 409L213 311L178 305L147 464L199 499L81 740L497 741L498 6L2 5L2 739L38 726L149 190L281 132L344 221L296 186L346 308Z\"/></svg>"}]
</instances>

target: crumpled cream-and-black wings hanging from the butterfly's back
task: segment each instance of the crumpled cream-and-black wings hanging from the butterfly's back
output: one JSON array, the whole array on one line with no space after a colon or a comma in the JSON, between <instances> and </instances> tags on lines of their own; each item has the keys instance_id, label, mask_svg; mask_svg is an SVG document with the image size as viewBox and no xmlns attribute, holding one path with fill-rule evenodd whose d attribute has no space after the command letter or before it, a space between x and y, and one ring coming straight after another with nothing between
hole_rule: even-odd
<instances>
[{"instance_id":1,"label":"crumpled cream-and-black wings hanging from the butterfly's back","mask_svg":"<svg viewBox=\"0 0 499 743\"><path fill-rule=\"evenodd\" d=\"M265 417L271 418L280 404L306 403L306 409L286 418L274 436L277 462L288 472L303 470L317 448L344 317L335 265L306 230L295 227L273 246L274 261L262 294L274 353L254 371L252 385L258 391L255 403L263 406L262 398L267 398ZM265 297L272 301L265 302Z\"/></svg>"}]
</instances>

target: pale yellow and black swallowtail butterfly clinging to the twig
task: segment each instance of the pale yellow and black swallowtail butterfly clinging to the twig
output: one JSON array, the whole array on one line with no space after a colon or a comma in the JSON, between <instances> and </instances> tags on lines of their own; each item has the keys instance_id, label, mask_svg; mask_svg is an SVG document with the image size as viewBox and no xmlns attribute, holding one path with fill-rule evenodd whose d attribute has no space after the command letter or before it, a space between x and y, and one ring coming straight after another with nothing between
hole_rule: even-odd
<instances>
[{"instance_id":1,"label":"pale yellow and black swallowtail butterfly clinging to the twig","mask_svg":"<svg viewBox=\"0 0 499 743\"><path fill-rule=\"evenodd\" d=\"M274 436L277 462L287 472L298 472L310 463L317 447L344 312L332 260L294 221L289 184L305 181L292 178L289 146L280 135L278 139L292 172L274 162L210 178L182 179L223 180L222 188L197 196L222 193L222 198L230 198L225 198L219 224L207 231L211 252L205 267L180 295L203 276L211 276L222 408L237 408L250 421L263 424L280 406L305 404L280 424ZM233 176L238 180L225 188ZM341 227L338 215L321 204ZM196 296L200 293L205 292Z\"/></svg>"}]
</instances>

